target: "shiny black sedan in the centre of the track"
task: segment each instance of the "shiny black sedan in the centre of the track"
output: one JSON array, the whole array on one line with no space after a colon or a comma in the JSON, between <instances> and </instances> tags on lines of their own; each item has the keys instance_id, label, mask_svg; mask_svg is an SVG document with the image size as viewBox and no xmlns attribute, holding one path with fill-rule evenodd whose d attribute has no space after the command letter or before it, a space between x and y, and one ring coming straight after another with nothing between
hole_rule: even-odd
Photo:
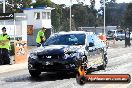
<instances>
[{"instance_id":1,"label":"shiny black sedan in the centre of the track","mask_svg":"<svg viewBox=\"0 0 132 88\"><path fill-rule=\"evenodd\" d=\"M51 35L44 47L30 53L28 69L32 77L41 72L76 72L85 69L105 69L107 48L95 34L83 31L60 32Z\"/></svg>"}]
</instances>

